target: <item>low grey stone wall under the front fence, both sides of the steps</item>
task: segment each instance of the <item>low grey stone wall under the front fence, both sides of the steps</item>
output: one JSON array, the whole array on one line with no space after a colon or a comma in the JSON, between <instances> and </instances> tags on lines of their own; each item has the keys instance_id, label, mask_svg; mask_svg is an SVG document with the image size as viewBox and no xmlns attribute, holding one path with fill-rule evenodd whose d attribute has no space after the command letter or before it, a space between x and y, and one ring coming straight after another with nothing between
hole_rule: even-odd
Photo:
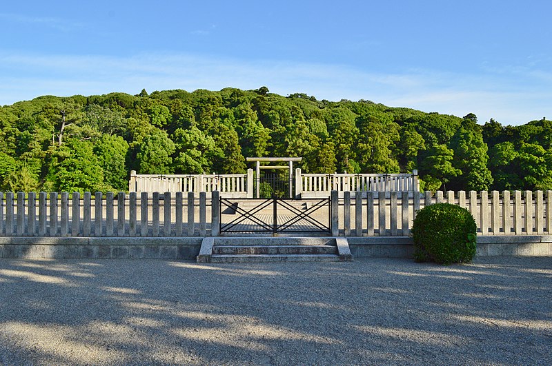
<instances>
[{"instance_id":1,"label":"low grey stone wall under the front fence, both sides of the steps","mask_svg":"<svg viewBox=\"0 0 552 366\"><path fill-rule=\"evenodd\" d=\"M201 237L0 237L0 258L157 258L195 261L202 240ZM347 241L355 258L413 257L413 240L408 236L351 237ZM552 256L552 235L477 236L476 256Z\"/></svg>"}]
</instances>

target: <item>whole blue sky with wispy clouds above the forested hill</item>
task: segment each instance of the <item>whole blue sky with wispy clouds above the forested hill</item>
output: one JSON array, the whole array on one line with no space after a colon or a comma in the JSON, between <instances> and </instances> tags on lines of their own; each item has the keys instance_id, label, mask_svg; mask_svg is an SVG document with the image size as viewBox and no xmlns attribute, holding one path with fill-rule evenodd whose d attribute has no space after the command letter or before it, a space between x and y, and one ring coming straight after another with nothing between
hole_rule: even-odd
<instances>
[{"instance_id":1,"label":"whole blue sky with wispy clouds above the forested hill","mask_svg":"<svg viewBox=\"0 0 552 366\"><path fill-rule=\"evenodd\" d=\"M0 105L257 89L552 119L552 1L5 1Z\"/></svg>"}]
</instances>

